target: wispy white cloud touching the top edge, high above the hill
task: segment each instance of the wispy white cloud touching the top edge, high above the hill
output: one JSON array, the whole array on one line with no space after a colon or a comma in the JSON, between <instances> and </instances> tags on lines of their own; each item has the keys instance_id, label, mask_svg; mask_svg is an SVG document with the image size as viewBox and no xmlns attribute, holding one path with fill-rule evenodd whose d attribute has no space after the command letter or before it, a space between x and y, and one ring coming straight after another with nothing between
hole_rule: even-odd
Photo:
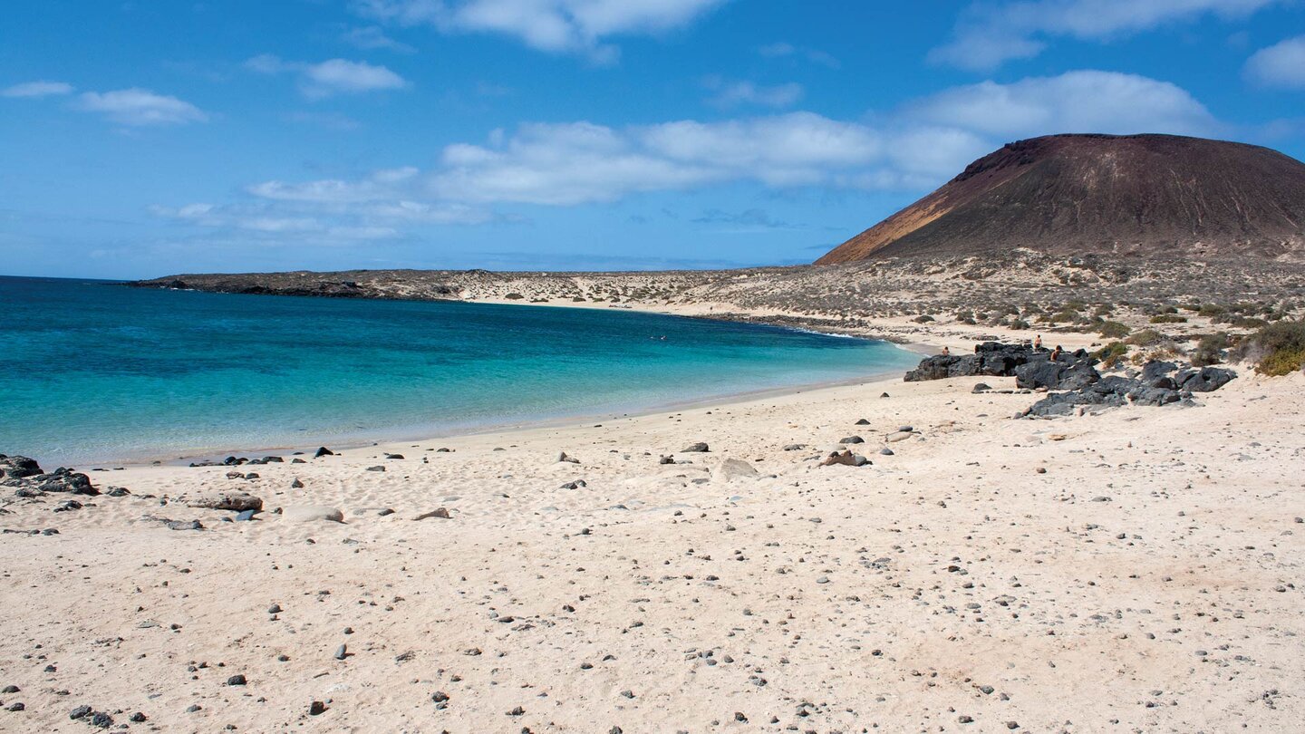
<instances>
[{"instance_id":1,"label":"wispy white cloud touching the top edge, high above the hill","mask_svg":"<svg viewBox=\"0 0 1305 734\"><path fill-rule=\"evenodd\" d=\"M1030 59L1045 39L1109 40L1203 16L1242 18L1282 0L1005 0L971 5L929 60L987 71Z\"/></svg>"}]
</instances>

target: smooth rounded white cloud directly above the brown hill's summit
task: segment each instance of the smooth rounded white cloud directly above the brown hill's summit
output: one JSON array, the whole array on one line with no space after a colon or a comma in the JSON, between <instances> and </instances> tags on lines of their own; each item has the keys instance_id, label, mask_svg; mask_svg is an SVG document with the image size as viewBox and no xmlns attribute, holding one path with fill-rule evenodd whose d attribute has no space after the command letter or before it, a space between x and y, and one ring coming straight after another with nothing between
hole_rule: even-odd
<instances>
[{"instance_id":1,"label":"smooth rounded white cloud directly above the brown hill's summit","mask_svg":"<svg viewBox=\"0 0 1305 734\"><path fill-rule=\"evenodd\" d=\"M1180 86L1098 71L960 86L914 103L910 112L934 124L1006 137L1045 132L1208 135L1219 129L1214 115Z\"/></svg>"}]
</instances>

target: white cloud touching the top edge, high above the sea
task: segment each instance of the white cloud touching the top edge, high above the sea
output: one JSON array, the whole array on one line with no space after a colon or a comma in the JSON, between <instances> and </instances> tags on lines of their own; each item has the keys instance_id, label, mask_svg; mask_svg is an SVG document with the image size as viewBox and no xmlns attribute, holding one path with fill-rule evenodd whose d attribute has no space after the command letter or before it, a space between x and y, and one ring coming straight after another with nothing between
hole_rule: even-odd
<instances>
[{"instance_id":1,"label":"white cloud touching the top edge, high above the sea","mask_svg":"<svg viewBox=\"0 0 1305 734\"><path fill-rule=\"evenodd\" d=\"M359 0L365 16L442 33L499 33L531 48L611 60L613 35L683 27L727 0Z\"/></svg>"}]
</instances>

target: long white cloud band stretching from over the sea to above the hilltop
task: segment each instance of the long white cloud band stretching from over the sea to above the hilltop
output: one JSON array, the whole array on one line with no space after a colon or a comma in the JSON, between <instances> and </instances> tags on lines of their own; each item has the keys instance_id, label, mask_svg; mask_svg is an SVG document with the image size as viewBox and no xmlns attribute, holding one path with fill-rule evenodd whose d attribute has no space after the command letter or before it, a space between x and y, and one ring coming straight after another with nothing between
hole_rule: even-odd
<instances>
[{"instance_id":1,"label":"long white cloud band stretching from over the sea to above the hilltop","mask_svg":"<svg viewBox=\"0 0 1305 734\"><path fill-rule=\"evenodd\" d=\"M773 189L921 191L1017 137L1062 132L1208 133L1221 125L1168 82L1079 71L983 82L917 101L874 123L790 112L607 127L523 124L446 145L431 168L270 180L241 206L161 210L201 226L313 234L504 221L500 208L576 206L641 192L752 182ZM757 225L758 222L752 222ZM325 235L324 235L325 236ZM343 236L335 234L333 236Z\"/></svg>"}]
</instances>

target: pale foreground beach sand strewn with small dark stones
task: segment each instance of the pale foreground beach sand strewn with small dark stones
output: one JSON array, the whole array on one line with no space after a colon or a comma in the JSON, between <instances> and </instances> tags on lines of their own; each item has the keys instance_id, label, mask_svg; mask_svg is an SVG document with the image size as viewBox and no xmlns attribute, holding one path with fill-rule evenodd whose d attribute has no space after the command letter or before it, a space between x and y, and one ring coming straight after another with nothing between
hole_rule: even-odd
<instances>
[{"instance_id":1,"label":"pale foreground beach sand strewn with small dark stones","mask_svg":"<svg viewBox=\"0 0 1305 734\"><path fill-rule=\"evenodd\" d=\"M1305 377L1241 374L1052 421L891 379L91 471L129 494L0 515L0 729L1297 730ZM821 466L851 436L873 464Z\"/></svg>"}]
</instances>

